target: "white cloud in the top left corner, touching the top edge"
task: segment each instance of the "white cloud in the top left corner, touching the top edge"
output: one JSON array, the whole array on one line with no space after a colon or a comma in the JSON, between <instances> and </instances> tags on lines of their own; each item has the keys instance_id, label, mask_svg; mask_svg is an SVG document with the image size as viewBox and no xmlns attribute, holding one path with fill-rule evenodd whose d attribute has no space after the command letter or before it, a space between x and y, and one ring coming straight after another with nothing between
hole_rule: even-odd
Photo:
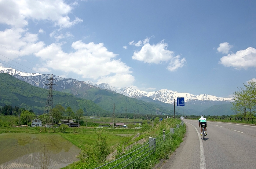
<instances>
[{"instance_id":1,"label":"white cloud in the top left corner, touching the top edge","mask_svg":"<svg viewBox=\"0 0 256 169\"><path fill-rule=\"evenodd\" d=\"M70 21L68 14L72 7L63 0L1 0L0 23L22 28L28 20L48 20L60 28L68 28L79 22L80 18Z\"/></svg>"}]
</instances>

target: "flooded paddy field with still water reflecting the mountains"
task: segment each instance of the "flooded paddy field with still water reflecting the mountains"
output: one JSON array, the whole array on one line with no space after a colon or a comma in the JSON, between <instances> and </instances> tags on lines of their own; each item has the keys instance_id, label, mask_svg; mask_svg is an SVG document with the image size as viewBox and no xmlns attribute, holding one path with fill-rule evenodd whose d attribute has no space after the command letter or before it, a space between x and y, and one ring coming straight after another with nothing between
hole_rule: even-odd
<instances>
[{"instance_id":1,"label":"flooded paddy field with still water reflecting the mountains","mask_svg":"<svg viewBox=\"0 0 256 169\"><path fill-rule=\"evenodd\" d=\"M59 169L77 161L80 149L60 135L0 134L0 169Z\"/></svg>"}]
</instances>

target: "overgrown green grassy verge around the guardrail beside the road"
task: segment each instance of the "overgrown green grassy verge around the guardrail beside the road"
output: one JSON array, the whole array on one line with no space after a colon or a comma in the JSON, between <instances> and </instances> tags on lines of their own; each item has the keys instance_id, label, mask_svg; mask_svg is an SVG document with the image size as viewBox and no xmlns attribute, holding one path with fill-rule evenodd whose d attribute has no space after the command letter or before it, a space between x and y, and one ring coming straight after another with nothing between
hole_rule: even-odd
<instances>
[{"instance_id":1,"label":"overgrown green grassy verge around the guardrail beside the road","mask_svg":"<svg viewBox=\"0 0 256 169\"><path fill-rule=\"evenodd\" d=\"M159 125L156 125L153 128L149 128L148 130L141 133L139 137L140 139L146 140L146 142L144 142L143 144L137 143L128 149L126 148L126 146L129 145L131 142L129 142L128 144L119 144L119 146L117 146L116 148L117 153L115 155L115 159L119 159L120 157L127 154L128 155L123 157L124 159L122 160L120 159L106 166L101 167L101 169L111 168L116 164L122 161L125 161L125 159L127 159L127 161L122 163L122 167L124 167L125 165L128 165L132 160L132 163L129 164L128 168L134 167L134 168L147 169L147 168L154 167L155 164L159 163L160 159L162 158L168 159L169 154L171 154L180 145L184 137L184 134L186 133L186 126L180 126L180 128L176 128L176 124L180 124L180 122L181 120L178 120L178 119L167 119L167 120L163 120L163 122L161 122ZM170 128L176 128L173 135L170 134ZM166 137L165 140L163 140L162 138L163 129L166 130L166 135L168 135L168 137ZM152 154L150 153L150 151L153 151L153 150L149 150L149 152L146 152L146 154L147 153L149 154L145 158L143 155L140 154L140 152L138 152L140 150L137 150L137 149L143 145L146 145L148 143L149 137L156 138L156 142L157 142L156 150L155 152L151 152ZM133 140L133 142L134 141L136 140ZM99 150L99 148L97 147L94 147L94 148L86 147L86 148L87 149L82 150L80 154L80 161L75 162L65 168L66 169L78 169L78 168L94 169L96 167L101 166L102 164L107 163L107 161L105 160L97 160L98 158L97 154L93 154L90 152L90 150L93 150L93 149L97 151ZM148 149L148 147L146 149ZM138 158L139 160L136 160L137 157L136 158L134 157L136 156L136 154L140 154L143 157L139 157ZM141 158L144 158L144 159L142 160ZM122 167L119 166L115 168L122 168Z\"/></svg>"}]
</instances>

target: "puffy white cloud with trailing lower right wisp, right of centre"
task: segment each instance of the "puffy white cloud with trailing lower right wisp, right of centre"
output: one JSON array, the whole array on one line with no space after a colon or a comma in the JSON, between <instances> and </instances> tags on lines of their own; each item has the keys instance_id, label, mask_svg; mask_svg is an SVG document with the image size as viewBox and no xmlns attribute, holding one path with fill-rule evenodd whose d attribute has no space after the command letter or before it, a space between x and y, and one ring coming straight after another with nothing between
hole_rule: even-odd
<instances>
[{"instance_id":1,"label":"puffy white cloud with trailing lower right wisp, right of centre","mask_svg":"<svg viewBox=\"0 0 256 169\"><path fill-rule=\"evenodd\" d=\"M144 44L140 51L133 53L132 59L143 61L144 63L161 64L170 61L167 69L175 71L177 68L183 67L185 58L180 60L180 56L174 56L173 51L167 50L168 44L161 41L156 45Z\"/></svg>"}]
</instances>

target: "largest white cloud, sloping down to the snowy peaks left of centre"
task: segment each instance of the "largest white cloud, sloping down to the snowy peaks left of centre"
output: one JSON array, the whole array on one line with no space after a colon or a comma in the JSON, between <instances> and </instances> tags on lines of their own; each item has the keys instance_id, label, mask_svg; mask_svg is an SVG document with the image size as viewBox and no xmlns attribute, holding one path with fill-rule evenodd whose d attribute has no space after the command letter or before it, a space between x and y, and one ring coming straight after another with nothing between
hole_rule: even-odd
<instances>
[{"instance_id":1,"label":"largest white cloud, sloping down to the snowy peaks left of centre","mask_svg":"<svg viewBox=\"0 0 256 169\"><path fill-rule=\"evenodd\" d=\"M120 59L115 59L117 54L109 52L103 43L85 44L76 41L73 42L72 48L75 52L65 53L60 43L53 43L35 55L42 60L42 67L73 72L82 75L83 78L98 80L99 83L125 87L134 82L130 67Z\"/></svg>"}]
</instances>

